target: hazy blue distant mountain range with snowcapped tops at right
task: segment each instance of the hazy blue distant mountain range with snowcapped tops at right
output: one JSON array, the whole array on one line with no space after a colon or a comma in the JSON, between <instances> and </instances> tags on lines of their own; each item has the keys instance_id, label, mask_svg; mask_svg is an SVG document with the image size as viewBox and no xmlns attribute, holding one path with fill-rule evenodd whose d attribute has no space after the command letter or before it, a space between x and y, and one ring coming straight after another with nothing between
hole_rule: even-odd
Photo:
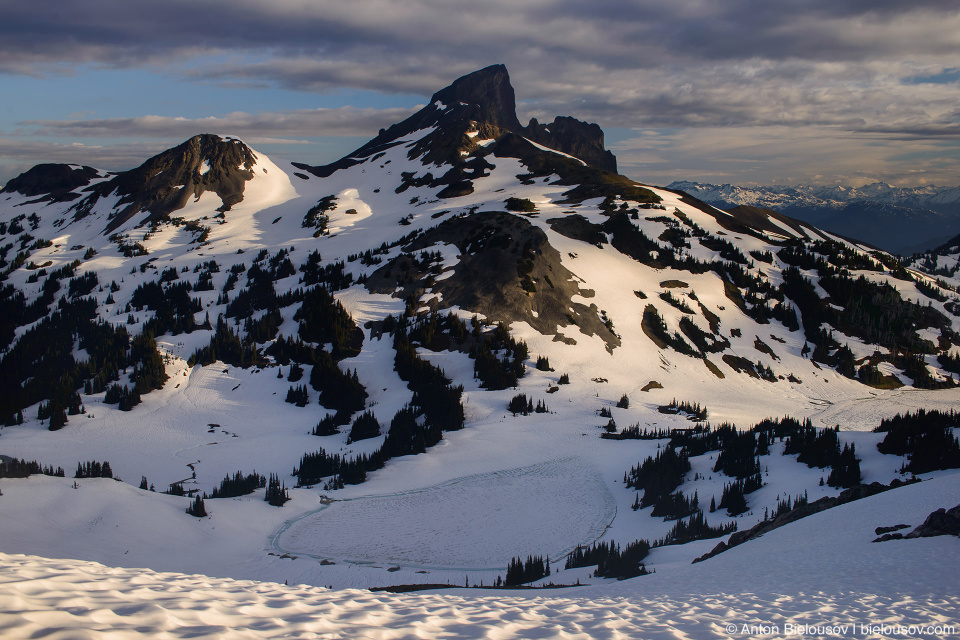
<instances>
[{"instance_id":1,"label":"hazy blue distant mountain range with snowcapped tops at right","mask_svg":"<svg viewBox=\"0 0 960 640\"><path fill-rule=\"evenodd\" d=\"M960 233L960 187L905 188L882 182L858 188L739 187L679 180L667 188L721 209L773 209L901 255L934 248Z\"/></svg>"}]
</instances>

